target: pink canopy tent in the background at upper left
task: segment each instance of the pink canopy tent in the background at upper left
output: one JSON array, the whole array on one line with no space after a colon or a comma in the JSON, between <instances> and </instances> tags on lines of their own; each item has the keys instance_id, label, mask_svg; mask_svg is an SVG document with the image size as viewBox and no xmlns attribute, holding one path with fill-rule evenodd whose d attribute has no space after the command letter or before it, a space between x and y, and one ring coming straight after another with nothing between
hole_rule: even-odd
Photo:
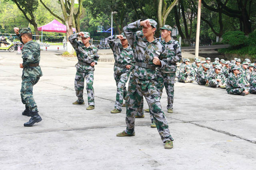
<instances>
[{"instance_id":1,"label":"pink canopy tent in the background at upper left","mask_svg":"<svg viewBox=\"0 0 256 170\"><path fill-rule=\"evenodd\" d=\"M38 31L45 31L45 32L63 32L66 33L66 26L64 24L61 24L60 22L58 22L57 20L52 20L50 23L38 27L37 28ZM76 32L76 28L72 28L73 32Z\"/></svg>"}]
</instances>

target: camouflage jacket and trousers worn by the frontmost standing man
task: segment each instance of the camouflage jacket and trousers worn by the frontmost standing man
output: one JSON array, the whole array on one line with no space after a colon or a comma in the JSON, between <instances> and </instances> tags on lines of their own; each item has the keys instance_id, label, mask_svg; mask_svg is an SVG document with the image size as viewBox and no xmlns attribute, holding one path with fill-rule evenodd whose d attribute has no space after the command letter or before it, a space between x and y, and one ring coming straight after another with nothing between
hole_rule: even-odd
<instances>
[{"instance_id":1,"label":"camouflage jacket and trousers worn by the frontmost standing man","mask_svg":"<svg viewBox=\"0 0 256 170\"><path fill-rule=\"evenodd\" d=\"M166 63L170 62L171 57L166 59L166 61L162 61L162 59L168 58L164 45L156 39L153 42L148 42L146 38L135 34L137 29L140 28L140 21L142 20L130 23L123 28L128 43L134 50L134 60L147 63L148 65L154 65L152 62L153 57L158 57L162 67L164 67ZM170 135L168 122L160 104L156 78L156 70L137 65L132 69L126 95L127 126L125 131L127 134L134 133L135 115L139 112L143 113L141 106L144 96L148 103L150 113L156 122L160 137L165 142L166 140L173 140L173 138Z\"/></svg>"}]
</instances>

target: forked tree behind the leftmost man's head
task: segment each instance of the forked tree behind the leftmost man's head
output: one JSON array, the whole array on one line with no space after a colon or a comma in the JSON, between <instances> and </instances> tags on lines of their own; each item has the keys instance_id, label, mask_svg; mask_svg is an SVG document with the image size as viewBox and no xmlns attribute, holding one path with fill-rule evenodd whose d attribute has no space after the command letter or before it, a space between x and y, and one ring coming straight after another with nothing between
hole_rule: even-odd
<instances>
[{"instance_id":1,"label":"forked tree behind the leftmost man's head","mask_svg":"<svg viewBox=\"0 0 256 170\"><path fill-rule=\"evenodd\" d=\"M8 2L9 0L4 0ZM14 2L19 10L24 14L26 20L34 26L36 35L39 35L36 23L36 17L34 15L35 10L38 7L38 0L11 0ZM36 36L36 40L39 40L39 36Z\"/></svg>"}]
</instances>

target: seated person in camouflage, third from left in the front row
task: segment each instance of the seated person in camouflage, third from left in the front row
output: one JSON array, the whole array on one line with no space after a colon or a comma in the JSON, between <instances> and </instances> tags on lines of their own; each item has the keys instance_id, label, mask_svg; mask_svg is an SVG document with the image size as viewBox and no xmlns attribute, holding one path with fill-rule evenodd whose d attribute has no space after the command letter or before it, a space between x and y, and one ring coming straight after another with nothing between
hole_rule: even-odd
<instances>
[{"instance_id":1,"label":"seated person in camouflage, third from left in the front row","mask_svg":"<svg viewBox=\"0 0 256 170\"><path fill-rule=\"evenodd\" d=\"M210 72L207 75L210 87L222 87L226 86L226 77L220 72L221 65L217 64L214 67L214 72Z\"/></svg>"}]
</instances>

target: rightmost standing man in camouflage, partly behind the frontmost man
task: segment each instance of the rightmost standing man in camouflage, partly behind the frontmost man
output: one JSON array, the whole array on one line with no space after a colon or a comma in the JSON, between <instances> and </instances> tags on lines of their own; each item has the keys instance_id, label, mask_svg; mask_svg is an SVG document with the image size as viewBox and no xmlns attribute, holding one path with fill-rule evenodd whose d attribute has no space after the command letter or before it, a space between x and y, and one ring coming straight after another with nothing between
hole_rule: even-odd
<instances>
[{"instance_id":1,"label":"rightmost standing man in camouflage, partly behind the frontmost man","mask_svg":"<svg viewBox=\"0 0 256 170\"><path fill-rule=\"evenodd\" d=\"M172 28L169 25L164 25L161 30L161 36L164 38L164 41L162 43L164 44L165 49L168 52L168 56L172 57L172 63L169 65L166 65L166 68L164 69L157 69L156 74L158 75L157 81L158 81L158 94L160 96L160 99L162 97L163 89L165 87L166 94L167 94L167 112L173 113L173 99L174 99L174 79L175 79L175 73L177 70L177 62L179 62L182 58L181 56L181 49L180 44L173 40L171 37L172 34ZM146 109L144 111L147 111ZM150 115L152 125L154 126L154 121L152 115Z\"/></svg>"}]
</instances>

